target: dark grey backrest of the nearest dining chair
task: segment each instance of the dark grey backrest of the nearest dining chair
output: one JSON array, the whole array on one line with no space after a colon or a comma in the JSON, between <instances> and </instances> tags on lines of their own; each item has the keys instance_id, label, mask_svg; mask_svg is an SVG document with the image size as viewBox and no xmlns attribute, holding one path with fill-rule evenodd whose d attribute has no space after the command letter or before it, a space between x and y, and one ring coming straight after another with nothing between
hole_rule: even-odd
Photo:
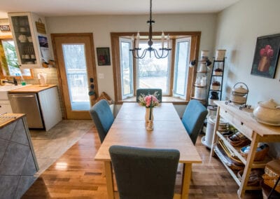
<instances>
[{"instance_id":1,"label":"dark grey backrest of the nearest dining chair","mask_svg":"<svg viewBox=\"0 0 280 199\"><path fill-rule=\"evenodd\" d=\"M109 153L120 199L174 197L178 150L115 145Z\"/></svg>"}]
</instances>

